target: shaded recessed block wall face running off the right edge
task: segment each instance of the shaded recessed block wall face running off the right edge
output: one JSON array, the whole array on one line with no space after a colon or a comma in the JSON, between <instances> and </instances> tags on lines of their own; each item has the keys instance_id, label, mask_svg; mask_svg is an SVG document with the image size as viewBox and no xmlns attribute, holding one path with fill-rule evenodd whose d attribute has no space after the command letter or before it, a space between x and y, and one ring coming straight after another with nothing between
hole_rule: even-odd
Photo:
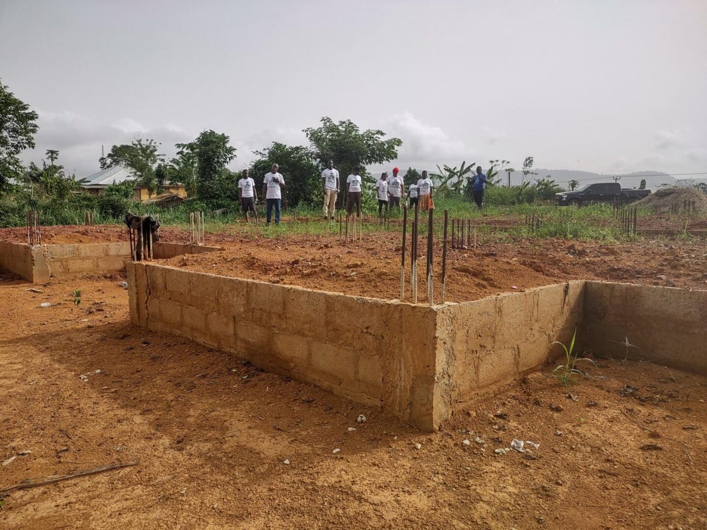
<instances>
[{"instance_id":1,"label":"shaded recessed block wall face running off the right edge","mask_svg":"<svg viewBox=\"0 0 707 530\"><path fill-rule=\"evenodd\" d=\"M707 290L588 281L586 349L707 375ZM635 355L633 355L635 354Z\"/></svg>"}]
</instances>

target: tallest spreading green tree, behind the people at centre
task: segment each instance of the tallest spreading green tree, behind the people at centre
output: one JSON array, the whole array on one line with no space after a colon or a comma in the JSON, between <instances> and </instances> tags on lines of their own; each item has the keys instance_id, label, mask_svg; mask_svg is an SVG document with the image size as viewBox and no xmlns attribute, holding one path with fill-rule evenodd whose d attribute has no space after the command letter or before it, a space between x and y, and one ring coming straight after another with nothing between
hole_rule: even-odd
<instances>
[{"instance_id":1,"label":"tallest spreading green tree, behind the people at centre","mask_svg":"<svg viewBox=\"0 0 707 530\"><path fill-rule=\"evenodd\" d=\"M320 167L325 167L327 160L334 160L334 165L341 176L339 203L341 204L344 199L346 177L356 166L361 167L361 177L370 192L375 179L366 170L366 165L395 160L397 149L402 146L402 140L386 139L386 134L378 129L361 131L350 119L337 123L329 117L323 117L320 122L321 126L316 129L310 127L303 132L310 141Z\"/></svg>"}]
</instances>

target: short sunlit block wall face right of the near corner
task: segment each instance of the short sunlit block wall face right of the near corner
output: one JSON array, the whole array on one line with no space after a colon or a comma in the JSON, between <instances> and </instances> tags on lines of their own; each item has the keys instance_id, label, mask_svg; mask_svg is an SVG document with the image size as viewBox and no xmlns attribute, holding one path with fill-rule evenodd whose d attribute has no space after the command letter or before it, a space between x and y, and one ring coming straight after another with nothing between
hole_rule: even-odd
<instances>
[{"instance_id":1,"label":"short sunlit block wall face right of the near corner","mask_svg":"<svg viewBox=\"0 0 707 530\"><path fill-rule=\"evenodd\" d=\"M436 409L440 420L495 394L561 353L578 329L584 282L534 288L448 305L438 319Z\"/></svg>"}]
</instances>

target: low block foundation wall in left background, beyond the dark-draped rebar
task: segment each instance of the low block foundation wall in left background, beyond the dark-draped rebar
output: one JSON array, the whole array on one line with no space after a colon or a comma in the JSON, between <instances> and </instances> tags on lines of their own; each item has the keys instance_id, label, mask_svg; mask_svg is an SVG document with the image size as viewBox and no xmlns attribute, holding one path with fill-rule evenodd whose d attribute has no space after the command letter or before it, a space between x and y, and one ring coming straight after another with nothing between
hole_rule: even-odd
<instances>
[{"instance_id":1,"label":"low block foundation wall in left background, beyond the dark-draped rebar","mask_svg":"<svg viewBox=\"0 0 707 530\"><path fill-rule=\"evenodd\" d=\"M167 259L180 254L214 252L220 247L155 242L153 257ZM30 245L0 242L0 269L34 283L112 274L125 270L130 261L130 243L76 243Z\"/></svg>"}]
</instances>

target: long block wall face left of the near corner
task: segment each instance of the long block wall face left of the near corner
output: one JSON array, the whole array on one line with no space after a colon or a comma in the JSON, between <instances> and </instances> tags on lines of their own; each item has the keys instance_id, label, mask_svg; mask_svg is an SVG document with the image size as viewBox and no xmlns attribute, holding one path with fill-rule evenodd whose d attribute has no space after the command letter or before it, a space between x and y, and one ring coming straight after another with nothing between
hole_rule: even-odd
<instances>
[{"instance_id":1,"label":"long block wall face left of the near corner","mask_svg":"<svg viewBox=\"0 0 707 530\"><path fill-rule=\"evenodd\" d=\"M134 324L433 428L434 308L146 262L127 270Z\"/></svg>"}]
</instances>

